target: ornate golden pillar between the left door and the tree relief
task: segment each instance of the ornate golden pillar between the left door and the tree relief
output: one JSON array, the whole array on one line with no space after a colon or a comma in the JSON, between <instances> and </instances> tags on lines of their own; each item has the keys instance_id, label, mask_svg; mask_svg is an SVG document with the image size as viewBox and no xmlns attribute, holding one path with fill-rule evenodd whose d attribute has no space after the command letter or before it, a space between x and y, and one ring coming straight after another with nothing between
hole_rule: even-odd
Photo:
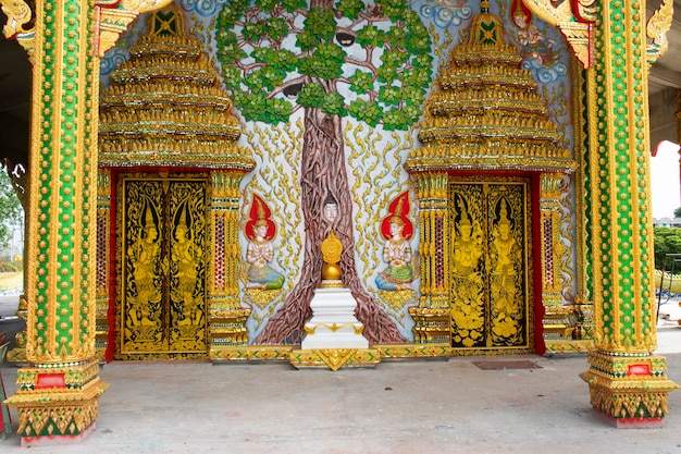
<instances>
[{"instance_id":1,"label":"ornate golden pillar between the left door and the tree relief","mask_svg":"<svg viewBox=\"0 0 681 454\"><path fill-rule=\"evenodd\" d=\"M225 359L234 347L248 344L245 323L250 308L239 298L239 184L244 172L212 172L212 279L209 300L210 358Z\"/></svg>"}]
</instances>

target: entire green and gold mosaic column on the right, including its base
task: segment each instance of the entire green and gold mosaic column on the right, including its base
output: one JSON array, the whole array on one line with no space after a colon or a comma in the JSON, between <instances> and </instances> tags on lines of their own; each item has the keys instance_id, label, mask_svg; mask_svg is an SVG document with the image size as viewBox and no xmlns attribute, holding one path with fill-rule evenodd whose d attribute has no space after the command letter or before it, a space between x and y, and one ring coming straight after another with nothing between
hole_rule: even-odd
<instances>
[{"instance_id":1,"label":"entire green and gold mosaic column on the right, including its base","mask_svg":"<svg viewBox=\"0 0 681 454\"><path fill-rule=\"evenodd\" d=\"M594 346L591 404L617 427L658 426L678 385L656 348L645 3L599 2L589 77Z\"/></svg>"}]
</instances>

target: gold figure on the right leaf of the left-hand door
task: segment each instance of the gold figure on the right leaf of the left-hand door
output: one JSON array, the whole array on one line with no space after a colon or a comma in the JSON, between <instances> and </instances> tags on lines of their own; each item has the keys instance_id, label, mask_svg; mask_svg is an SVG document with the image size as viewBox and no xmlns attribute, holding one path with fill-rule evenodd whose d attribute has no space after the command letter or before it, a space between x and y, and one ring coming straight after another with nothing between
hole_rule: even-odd
<instances>
[{"instance_id":1,"label":"gold figure on the right leaf of the left-hand door","mask_svg":"<svg viewBox=\"0 0 681 454\"><path fill-rule=\"evenodd\" d=\"M199 302L195 293L198 282L198 267L203 258L203 250L196 244L190 229L190 221L187 220L187 210L181 209L177 225L174 230L174 242L172 247L172 262L175 268L174 278L177 285L173 286L173 302L182 304L185 316L178 324L196 324L201 314L197 310Z\"/></svg>"}]
</instances>

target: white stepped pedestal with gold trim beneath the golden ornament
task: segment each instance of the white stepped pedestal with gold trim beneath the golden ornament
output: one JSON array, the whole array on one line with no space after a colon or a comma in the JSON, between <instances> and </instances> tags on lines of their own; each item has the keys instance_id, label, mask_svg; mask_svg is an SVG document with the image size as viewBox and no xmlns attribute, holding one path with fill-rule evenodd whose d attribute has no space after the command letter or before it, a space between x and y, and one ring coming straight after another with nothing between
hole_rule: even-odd
<instances>
[{"instance_id":1,"label":"white stepped pedestal with gold trim beneath the golden ornament","mask_svg":"<svg viewBox=\"0 0 681 454\"><path fill-rule=\"evenodd\" d=\"M312 318L305 323L307 335L300 348L368 348L364 326L355 317L357 302L345 287L320 287L310 302Z\"/></svg>"}]
</instances>

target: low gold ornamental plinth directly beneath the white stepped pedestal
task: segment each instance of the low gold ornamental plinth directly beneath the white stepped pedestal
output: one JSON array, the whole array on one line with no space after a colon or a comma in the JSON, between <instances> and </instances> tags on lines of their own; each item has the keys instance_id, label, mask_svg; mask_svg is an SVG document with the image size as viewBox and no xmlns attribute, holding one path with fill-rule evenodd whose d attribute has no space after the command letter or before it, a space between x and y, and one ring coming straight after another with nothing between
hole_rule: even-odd
<instances>
[{"instance_id":1,"label":"low gold ornamental plinth directly beneath the white stepped pedestal","mask_svg":"<svg viewBox=\"0 0 681 454\"><path fill-rule=\"evenodd\" d=\"M342 367L374 367L381 363L381 353L374 348L294 349L289 361L296 369Z\"/></svg>"}]
</instances>

